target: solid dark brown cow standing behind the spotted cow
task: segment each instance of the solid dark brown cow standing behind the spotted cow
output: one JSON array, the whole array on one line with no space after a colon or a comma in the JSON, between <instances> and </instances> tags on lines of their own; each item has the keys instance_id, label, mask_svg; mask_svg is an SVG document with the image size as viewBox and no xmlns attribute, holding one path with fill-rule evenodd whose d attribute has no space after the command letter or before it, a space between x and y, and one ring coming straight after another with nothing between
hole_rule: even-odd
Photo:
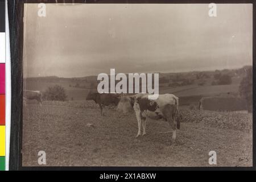
<instances>
[{"instance_id":1,"label":"solid dark brown cow standing behind the spotted cow","mask_svg":"<svg viewBox=\"0 0 256 182\"><path fill-rule=\"evenodd\" d=\"M105 106L118 105L120 100L120 95L115 93L93 93L89 92L86 100L93 100L96 104L100 106L101 115L104 115L103 109Z\"/></svg>"}]
</instances>

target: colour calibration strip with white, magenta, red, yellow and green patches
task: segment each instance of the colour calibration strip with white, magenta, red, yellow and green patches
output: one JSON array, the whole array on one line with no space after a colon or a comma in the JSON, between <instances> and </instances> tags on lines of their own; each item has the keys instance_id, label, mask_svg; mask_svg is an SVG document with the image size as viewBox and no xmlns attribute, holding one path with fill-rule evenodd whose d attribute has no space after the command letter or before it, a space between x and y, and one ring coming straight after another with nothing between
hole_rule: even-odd
<instances>
[{"instance_id":1,"label":"colour calibration strip with white, magenta, red, yellow and green patches","mask_svg":"<svg viewBox=\"0 0 256 182\"><path fill-rule=\"evenodd\" d=\"M0 1L0 171L5 171L5 1Z\"/></svg>"}]
</instances>

